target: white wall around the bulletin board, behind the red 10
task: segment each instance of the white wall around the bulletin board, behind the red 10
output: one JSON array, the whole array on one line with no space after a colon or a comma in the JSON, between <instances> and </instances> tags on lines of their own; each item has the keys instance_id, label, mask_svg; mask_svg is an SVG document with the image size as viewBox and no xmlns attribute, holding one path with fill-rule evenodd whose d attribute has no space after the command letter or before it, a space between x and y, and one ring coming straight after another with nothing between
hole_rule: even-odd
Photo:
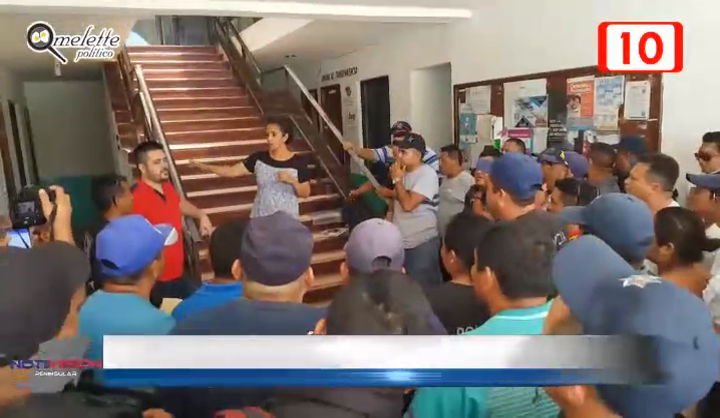
<instances>
[{"instance_id":1,"label":"white wall around the bulletin board, behind the red 10","mask_svg":"<svg viewBox=\"0 0 720 418\"><path fill-rule=\"evenodd\" d=\"M357 66L358 76L343 83L388 75L391 118L416 124L410 120L408 94L415 69L450 62L452 82L459 84L596 65L601 21L679 21L685 29L685 68L664 78L661 149L675 157L683 171L693 172L697 164L692 153L700 137L720 129L717 106L710 99L720 91L718 13L717 0L483 0L469 21L398 33L379 45L323 62L322 73ZM685 182L678 188L684 193Z\"/></svg>"}]
</instances>

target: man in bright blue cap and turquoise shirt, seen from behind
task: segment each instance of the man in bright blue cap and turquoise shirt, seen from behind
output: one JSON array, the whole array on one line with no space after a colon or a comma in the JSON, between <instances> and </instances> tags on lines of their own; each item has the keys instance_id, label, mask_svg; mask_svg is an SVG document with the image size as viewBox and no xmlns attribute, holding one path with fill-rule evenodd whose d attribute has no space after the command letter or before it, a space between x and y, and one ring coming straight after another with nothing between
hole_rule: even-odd
<instances>
[{"instance_id":1,"label":"man in bright blue cap and turquoise shirt, seen from behind","mask_svg":"<svg viewBox=\"0 0 720 418\"><path fill-rule=\"evenodd\" d=\"M163 249L178 240L170 225L152 225L142 215L110 221L95 240L102 289L80 309L79 334L91 339L86 357L102 360L104 335L163 335L175 321L150 304L163 271ZM96 376L100 377L100 376Z\"/></svg>"}]
</instances>

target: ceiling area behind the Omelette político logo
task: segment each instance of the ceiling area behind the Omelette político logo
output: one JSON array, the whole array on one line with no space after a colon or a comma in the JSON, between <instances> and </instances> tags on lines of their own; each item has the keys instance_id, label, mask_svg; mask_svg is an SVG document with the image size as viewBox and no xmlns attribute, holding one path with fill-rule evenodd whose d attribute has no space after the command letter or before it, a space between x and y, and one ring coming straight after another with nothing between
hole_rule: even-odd
<instances>
[{"instance_id":1,"label":"ceiling area behind the Omelette pol\u00edtico logo","mask_svg":"<svg viewBox=\"0 0 720 418\"><path fill-rule=\"evenodd\" d=\"M137 19L129 16L83 16L56 15L48 20L45 15L0 14L0 67L15 73L23 80L41 80L54 77L55 58L49 53L35 53L27 47L27 28L36 21L46 21L58 34L82 34L92 24L93 33L102 28L112 28L124 40ZM62 67L63 78L96 78L100 74L99 61L73 62L75 50L64 49L61 52L68 58Z\"/></svg>"}]
</instances>

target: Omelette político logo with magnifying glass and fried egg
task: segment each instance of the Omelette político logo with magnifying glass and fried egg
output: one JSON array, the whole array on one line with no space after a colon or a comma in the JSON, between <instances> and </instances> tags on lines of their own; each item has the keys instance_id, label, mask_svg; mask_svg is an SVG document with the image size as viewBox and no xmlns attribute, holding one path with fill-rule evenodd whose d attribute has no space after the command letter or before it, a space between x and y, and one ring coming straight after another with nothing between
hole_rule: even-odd
<instances>
[{"instance_id":1,"label":"Omelette pol\u00edtico logo with magnifying glass and fried egg","mask_svg":"<svg viewBox=\"0 0 720 418\"><path fill-rule=\"evenodd\" d=\"M57 33L48 22L34 22L27 28L27 46L35 53L52 55L59 63L67 64L63 49L75 49L74 62L81 60L112 60L115 48L120 46L120 36L112 28L95 32L95 26L88 25L82 33L66 35Z\"/></svg>"}]
</instances>

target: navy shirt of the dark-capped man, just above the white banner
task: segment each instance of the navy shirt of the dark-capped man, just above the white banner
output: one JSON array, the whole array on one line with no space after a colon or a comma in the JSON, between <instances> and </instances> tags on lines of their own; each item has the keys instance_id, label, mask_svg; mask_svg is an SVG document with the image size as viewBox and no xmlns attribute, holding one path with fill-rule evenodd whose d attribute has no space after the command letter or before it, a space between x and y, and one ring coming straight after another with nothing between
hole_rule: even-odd
<instances>
[{"instance_id":1,"label":"navy shirt of the dark-capped man, just above the white banner","mask_svg":"<svg viewBox=\"0 0 720 418\"><path fill-rule=\"evenodd\" d=\"M302 303L236 299L179 320L175 335L305 335L325 317Z\"/></svg>"}]
</instances>

